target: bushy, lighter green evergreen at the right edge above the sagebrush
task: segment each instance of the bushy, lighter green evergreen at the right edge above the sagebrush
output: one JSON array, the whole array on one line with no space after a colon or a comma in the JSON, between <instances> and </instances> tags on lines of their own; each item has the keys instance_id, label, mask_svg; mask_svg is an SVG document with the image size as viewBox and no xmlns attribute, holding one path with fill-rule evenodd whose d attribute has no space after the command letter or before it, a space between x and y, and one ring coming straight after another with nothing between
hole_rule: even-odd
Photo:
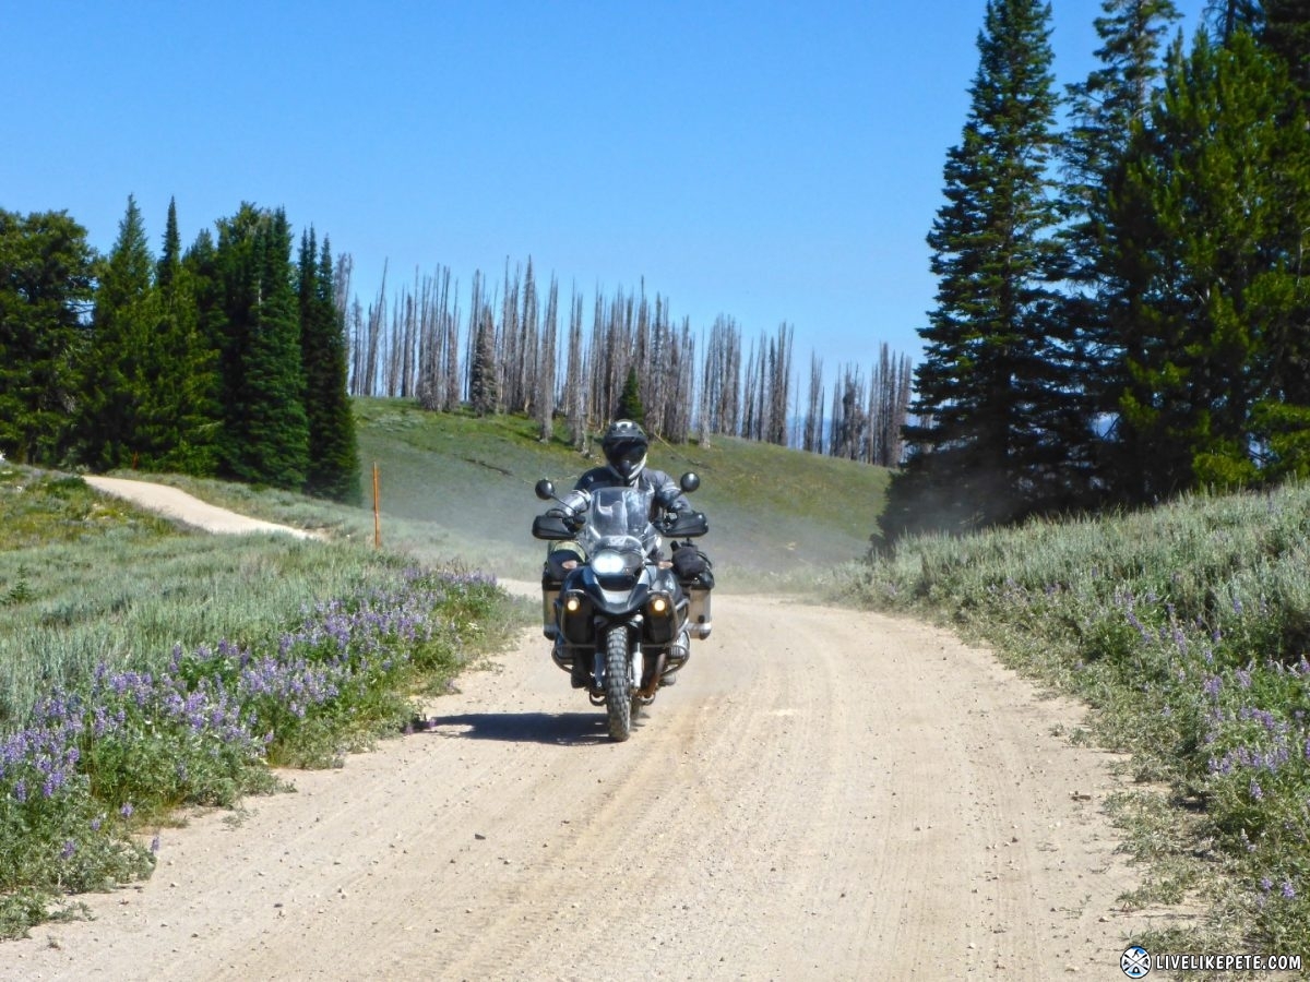
<instances>
[{"instance_id":1,"label":"bushy, lighter green evergreen at the right edge above the sagebrush","mask_svg":"<svg viewBox=\"0 0 1310 982\"><path fill-rule=\"evenodd\" d=\"M1226 47L1197 35L1186 56L1175 46L1165 96L1112 196L1116 261L1133 284L1116 321L1127 378L1116 473L1131 500L1303 465L1307 164L1282 64L1244 31ZM1262 419L1263 446L1252 439Z\"/></svg>"}]
</instances>

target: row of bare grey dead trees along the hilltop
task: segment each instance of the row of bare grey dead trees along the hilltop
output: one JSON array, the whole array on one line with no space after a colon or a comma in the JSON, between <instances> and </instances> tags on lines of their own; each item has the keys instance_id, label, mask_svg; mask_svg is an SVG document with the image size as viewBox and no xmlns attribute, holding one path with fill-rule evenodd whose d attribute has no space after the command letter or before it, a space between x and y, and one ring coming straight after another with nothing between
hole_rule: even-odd
<instances>
[{"instance_id":1,"label":"row of bare grey dead trees along the hilltop","mask_svg":"<svg viewBox=\"0 0 1310 982\"><path fill-rule=\"evenodd\" d=\"M348 257L342 257L342 304L350 274ZM474 272L465 330L458 285L452 289L448 268L438 267L431 278L415 271L413 289L392 299L384 266L383 287L367 316L355 300L346 317L351 393L417 397L434 410L453 409L462 398L479 412L527 414L544 439L561 411L570 441L584 448L608 422L634 369L647 427L665 440L685 441L694 428L706 445L722 433L884 466L899 462L912 376L909 360L893 359L887 346L867 388L858 369L844 367L827 419L823 363L811 354L802 419L791 325L779 325L773 336L761 334L743 371L741 331L731 317L717 317L697 344L690 321L683 318L675 327L668 300L648 296L642 282L635 292L618 288L609 296L597 288L590 334L583 325L586 299L574 288L565 339L558 283L552 276L541 314L536 279L531 257L525 267L506 259L500 291L489 291L489 280Z\"/></svg>"}]
</instances>

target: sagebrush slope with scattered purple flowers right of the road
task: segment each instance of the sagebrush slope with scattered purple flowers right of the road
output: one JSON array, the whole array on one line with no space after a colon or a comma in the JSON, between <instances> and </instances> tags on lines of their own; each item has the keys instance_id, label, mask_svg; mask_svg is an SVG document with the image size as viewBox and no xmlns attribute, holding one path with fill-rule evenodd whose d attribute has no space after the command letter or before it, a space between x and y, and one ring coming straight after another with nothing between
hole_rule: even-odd
<instances>
[{"instance_id":1,"label":"sagebrush slope with scattered purple flowers right of the road","mask_svg":"<svg viewBox=\"0 0 1310 982\"><path fill-rule=\"evenodd\" d=\"M912 536L849 575L1085 699L1076 736L1131 754L1112 807L1150 865L1125 902L1209 911L1134 941L1310 952L1310 486Z\"/></svg>"}]
</instances>

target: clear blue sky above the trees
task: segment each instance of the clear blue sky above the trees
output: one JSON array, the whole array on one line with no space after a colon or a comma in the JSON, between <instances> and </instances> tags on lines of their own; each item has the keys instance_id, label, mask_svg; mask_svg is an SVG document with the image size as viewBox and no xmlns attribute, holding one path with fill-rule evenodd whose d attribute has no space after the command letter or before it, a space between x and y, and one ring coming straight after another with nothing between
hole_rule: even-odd
<instances>
[{"instance_id":1,"label":"clear blue sky above the trees","mask_svg":"<svg viewBox=\"0 0 1310 982\"><path fill-rule=\"evenodd\" d=\"M1191 35L1204 0L1178 0ZM663 295L745 340L867 372L917 357L925 236L985 0L67 3L0 0L0 208L109 249L127 195L157 250L241 202L355 258L367 305L447 266L532 257L563 297ZM1057 81L1100 0L1053 0ZM588 314L590 316L590 314Z\"/></svg>"}]
</instances>

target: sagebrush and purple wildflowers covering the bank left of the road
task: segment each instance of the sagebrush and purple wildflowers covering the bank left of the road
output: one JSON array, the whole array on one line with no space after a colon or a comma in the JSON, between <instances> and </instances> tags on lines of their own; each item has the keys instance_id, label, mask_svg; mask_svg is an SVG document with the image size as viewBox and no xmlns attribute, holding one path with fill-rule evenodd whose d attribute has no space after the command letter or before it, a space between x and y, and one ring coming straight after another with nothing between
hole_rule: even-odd
<instances>
[{"instance_id":1,"label":"sagebrush and purple wildflowers covering the bank left of the road","mask_svg":"<svg viewBox=\"0 0 1310 982\"><path fill-rule=\"evenodd\" d=\"M521 622L461 564L189 533L0 462L0 937L148 876L186 805L398 733Z\"/></svg>"}]
</instances>

